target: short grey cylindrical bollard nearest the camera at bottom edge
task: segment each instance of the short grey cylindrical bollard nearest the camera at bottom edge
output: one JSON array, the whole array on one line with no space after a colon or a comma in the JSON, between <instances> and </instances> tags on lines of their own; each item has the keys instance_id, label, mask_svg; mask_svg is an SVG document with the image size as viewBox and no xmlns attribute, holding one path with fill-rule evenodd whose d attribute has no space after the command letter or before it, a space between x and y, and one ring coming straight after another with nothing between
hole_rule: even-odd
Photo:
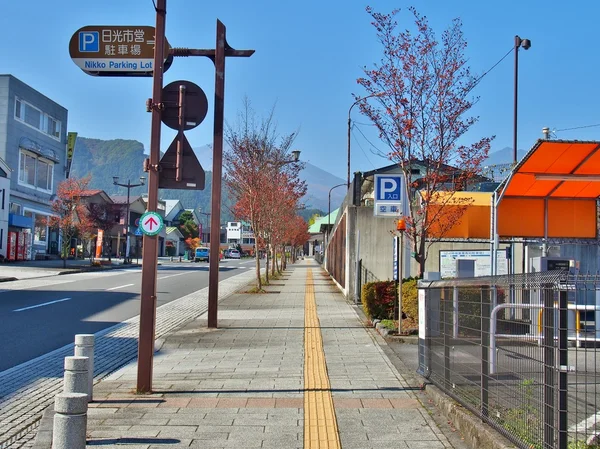
<instances>
[{"instance_id":1,"label":"short grey cylindrical bollard nearest the camera at bottom edge","mask_svg":"<svg viewBox=\"0 0 600 449\"><path fill-rule=\"evenodd\" d=\"M87 394L57 394L54 411L52 449L85 449Z\"/></svg>"}]
</instances>

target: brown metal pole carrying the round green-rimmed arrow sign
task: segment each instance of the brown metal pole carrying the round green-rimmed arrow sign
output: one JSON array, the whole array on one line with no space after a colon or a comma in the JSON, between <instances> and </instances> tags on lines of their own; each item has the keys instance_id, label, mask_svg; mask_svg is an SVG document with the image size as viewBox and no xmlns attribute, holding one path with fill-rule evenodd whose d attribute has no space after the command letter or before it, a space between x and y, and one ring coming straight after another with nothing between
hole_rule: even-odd
<instances>
[{"instance_id":1,"label":"brown metal pole carrying the round green-rimmed arrow sign","mask_svg":"<svg viewBox=\"0 0 600 449\"><path fill-rule=\"evenodd\" d=\"M165 22L167 0L157 0L156 44L152 80L152 125L150 162L148 164L148 211L158 208L158 163L160 160L161 94L165 54ZM156 267L158 237L144 235L142 254L142 295L140 304L140 334L138 341L137 391L152 391L152 360L156 326Z\"/></svg>"}]
</instances>

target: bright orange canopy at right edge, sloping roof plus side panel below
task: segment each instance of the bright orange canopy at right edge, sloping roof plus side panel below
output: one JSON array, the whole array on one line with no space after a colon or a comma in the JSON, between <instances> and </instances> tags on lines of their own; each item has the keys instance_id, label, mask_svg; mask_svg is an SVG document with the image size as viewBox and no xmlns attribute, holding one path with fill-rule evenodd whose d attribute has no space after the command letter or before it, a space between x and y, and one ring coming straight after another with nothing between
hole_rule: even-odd
<instances>
[{"instance_id":1,"label":"bright orange canopy at right edge, sloping roof plus side panel below","mask_svg":"<svg viewBox=\"0 0 600 449\"><path fill-rule=\"evenodd\" d=\"M596 238L600 142L538 140L497 192L501 237Z\"/></svg>"}]
</instances>

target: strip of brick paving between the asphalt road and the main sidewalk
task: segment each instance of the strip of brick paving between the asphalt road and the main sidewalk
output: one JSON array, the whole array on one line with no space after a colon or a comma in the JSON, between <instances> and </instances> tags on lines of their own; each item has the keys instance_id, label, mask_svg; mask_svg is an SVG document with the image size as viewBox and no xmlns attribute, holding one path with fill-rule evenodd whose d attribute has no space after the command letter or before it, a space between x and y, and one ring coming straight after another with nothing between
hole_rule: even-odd
<instances>
[{"instance_id":1,"label":"strip of brick paving between the asphalt road and the main sidewalk","mask_svg":"<svg viewBox=\"0 0 600 449\"><path fill-rule=\"evenodd\" d=\"M246 285L252 276L250 271L221 282L219 297L226 297ZM157 338L206 312L207 296L208 289L204 288L159 307ZM136 357L138 320L135 317L96 334L96 380ZM53 404L54 396L62 391L64 357L70 355L73 355L72 344L0 372L0 447L20 446L17 441L22 437L27 439L27 432L35 428L44 409Z\"/></svg>"}]
</instances>

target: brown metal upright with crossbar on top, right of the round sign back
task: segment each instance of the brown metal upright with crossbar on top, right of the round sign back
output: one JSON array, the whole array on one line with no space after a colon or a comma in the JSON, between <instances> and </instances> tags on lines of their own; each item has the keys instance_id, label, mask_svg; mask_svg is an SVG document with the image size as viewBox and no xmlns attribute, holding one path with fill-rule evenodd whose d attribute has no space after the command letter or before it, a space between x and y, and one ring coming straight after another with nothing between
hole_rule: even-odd
<instances>
[{"instance_id":1,"label":"brown metal upright with crossbar on top, right of the round sign back","mask_svg":"<svg viewBox=\"0 0 600 449\"><path fill-rule=\"evenodd\" d=\"M213 141L213 177L211 205L211 238L208 274L208 327L217 327L219 305L219 244L221 243L221 176L223 169L223 114L225 99L225 25L217 20L215 47L215 118ZM216 231L216 238L215 238Z\"/></svg>"}]
</instances>

